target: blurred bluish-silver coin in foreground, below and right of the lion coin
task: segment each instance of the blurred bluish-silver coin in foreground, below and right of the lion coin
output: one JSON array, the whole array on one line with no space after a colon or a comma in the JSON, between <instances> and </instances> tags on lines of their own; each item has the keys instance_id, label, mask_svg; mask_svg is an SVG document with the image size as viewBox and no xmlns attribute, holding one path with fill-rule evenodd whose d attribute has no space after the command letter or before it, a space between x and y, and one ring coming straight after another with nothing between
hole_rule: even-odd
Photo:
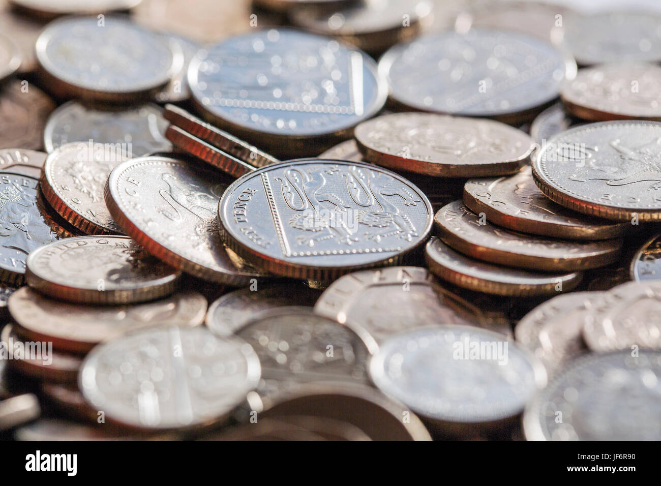
<instances>
[{"instance_id":1,"label":"blurred bluish-silver coin in foreground, below and right of the lion coin","mask_svg":"<svg viewBox=\"0 0 661 486\"><path fill-rule=\"evenodd\" d=\"M383 393L448 435L516 420L546 384L543 366L512 341L457 325L391 337L371 359L369 375Z\"/></svg>"}]
</instances>

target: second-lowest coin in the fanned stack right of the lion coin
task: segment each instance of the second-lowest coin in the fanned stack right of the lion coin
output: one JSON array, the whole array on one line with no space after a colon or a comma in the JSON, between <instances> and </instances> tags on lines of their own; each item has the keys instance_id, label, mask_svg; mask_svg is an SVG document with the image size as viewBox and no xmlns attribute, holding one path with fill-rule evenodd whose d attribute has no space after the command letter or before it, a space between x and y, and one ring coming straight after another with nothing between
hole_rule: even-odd
<instances>
[{"instance_id":1,"label":"second-lowest coin in the fanned stack right of the lion coin","mask_svg":"<svg viewBox=\"0 0 661 486\"><path fill-rule=\"evenodd\" d=\"M441 208L434 222L439 236L452 249L478 260L529 270L597 268L616 261L622 247L621 239L568 241L510 231L469 211L461 201Z\"/></svg>"}]
</instances>

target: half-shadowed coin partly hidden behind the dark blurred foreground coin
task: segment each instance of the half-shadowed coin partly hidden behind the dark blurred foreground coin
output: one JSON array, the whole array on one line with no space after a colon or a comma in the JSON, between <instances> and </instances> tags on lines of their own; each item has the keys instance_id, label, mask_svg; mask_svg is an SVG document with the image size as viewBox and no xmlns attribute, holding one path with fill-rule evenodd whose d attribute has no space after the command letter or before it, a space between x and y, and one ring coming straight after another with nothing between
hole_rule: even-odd
<instances>
[{"instance_id":1,"label":"half-shadowed coin partly hidden behind the dark blurred foreground coin","mask_svg":"<svg viewBox=\"0 0 661 486\"><path fill-rule=\"evenodd\" d=\"M229 292L209 306L206 325L217 335L231 335L260 312L293 305L312 306L321 295L301 283L276 282L269 286Z\"/></svg>"}]
</instances>

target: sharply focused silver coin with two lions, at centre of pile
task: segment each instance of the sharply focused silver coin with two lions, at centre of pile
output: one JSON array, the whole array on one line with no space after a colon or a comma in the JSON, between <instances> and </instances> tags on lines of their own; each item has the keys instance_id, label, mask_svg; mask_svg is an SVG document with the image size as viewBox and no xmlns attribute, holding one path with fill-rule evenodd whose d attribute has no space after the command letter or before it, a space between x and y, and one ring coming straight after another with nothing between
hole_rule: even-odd
<instances>
[{"instance_id":1,"label":"sharply focused silver coin with two lions, at centre of pile","mask_svg":"<svg viewBox=\"0 0 661 486\"><path fill-rule=\"evenodd\" d=\"M227 245L260 268L332 280L399 263L425 241L432 209L416 186L385 169L301 159L234 182L218 215Z\"/></svg>"}]
</instances>

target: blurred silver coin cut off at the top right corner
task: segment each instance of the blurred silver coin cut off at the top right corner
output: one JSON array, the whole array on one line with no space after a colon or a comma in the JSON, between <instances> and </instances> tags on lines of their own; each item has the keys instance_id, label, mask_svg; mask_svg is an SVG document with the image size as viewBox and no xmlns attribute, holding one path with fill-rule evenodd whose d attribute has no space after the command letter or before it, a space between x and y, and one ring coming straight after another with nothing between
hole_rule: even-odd
<instances>
[{"instance_id":1,"label":"blurred silver coin cut off at the top right corner","mask_svg":"<svg viewBox=\"0 0 661 486\"><path fill-rule=\"evenodd\" d=\"M566 17L564 40L579 64L661 60L658 14L633 10Z\"/></svg>"}]
</instances>

